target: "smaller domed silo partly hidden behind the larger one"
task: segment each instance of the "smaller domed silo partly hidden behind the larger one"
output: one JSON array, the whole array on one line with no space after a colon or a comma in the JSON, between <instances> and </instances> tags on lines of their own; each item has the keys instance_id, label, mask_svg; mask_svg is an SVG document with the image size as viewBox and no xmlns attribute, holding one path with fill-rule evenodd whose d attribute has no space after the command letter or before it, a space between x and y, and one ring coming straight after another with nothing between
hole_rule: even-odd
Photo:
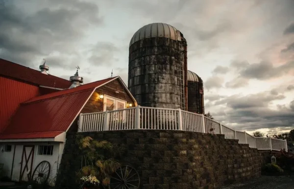
<instances>
[{"instance_id":1,"label":"smaller domed silo partly hidden behind the larger one","mask_svg":"<svg viewBox=\"0 0 294 189\"><path fill-rule=\"evenodd\" d=\"M194 72L188 70L188 111L204 113L203 81Z\"/></svg>"}]
</instances>

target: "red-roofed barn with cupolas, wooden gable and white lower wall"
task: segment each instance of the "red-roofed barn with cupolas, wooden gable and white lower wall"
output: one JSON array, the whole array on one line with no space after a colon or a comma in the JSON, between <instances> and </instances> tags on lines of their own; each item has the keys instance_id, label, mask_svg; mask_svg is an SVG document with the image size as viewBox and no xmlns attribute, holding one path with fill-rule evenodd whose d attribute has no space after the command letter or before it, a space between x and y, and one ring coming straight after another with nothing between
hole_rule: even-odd
<instances>
[{"instance_id":1,"label":"red-roofed barn with cupolas, wooden gable and white lower wall","mask_svg":"<svg viewBox=\"0 0 294 189\"><path fill-rule=\"evenodd\" d=\"M78 115L123 109L137 103L120 77L82 84L0 59L1 176L13 181L40 177L54 184L68 131L77 132ZM45 68L45 71L44 71Z\"/></svg>"}]
</instances>

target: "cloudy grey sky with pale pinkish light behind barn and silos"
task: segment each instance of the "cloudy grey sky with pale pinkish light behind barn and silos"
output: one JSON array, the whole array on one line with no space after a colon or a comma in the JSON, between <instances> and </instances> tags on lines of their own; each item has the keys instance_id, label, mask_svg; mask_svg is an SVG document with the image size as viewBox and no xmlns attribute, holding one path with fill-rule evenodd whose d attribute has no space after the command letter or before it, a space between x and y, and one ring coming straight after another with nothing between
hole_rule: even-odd
<instances>
[{"instance_id":1,"label":"cloudy grey sky with pale pinkish light behind barn and silos","mask_svg":"<svg viewBox=\"0 0 294 189\"><path fill-rule=\"evenodd\" d=\"M0 58L84 83L121 76L128 47L150 23L188 43L205 111L239 131L294 129L294 0L0 0Z\"/></svg>"}]
</instances>

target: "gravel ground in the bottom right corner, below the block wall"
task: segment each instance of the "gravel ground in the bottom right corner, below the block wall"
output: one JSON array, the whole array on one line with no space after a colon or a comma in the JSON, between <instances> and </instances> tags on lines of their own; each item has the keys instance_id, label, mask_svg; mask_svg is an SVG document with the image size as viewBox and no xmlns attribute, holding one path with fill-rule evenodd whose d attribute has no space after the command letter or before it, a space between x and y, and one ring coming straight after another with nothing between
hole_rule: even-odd
<instances>
[{"instance_id":1,"label":"gravel ground in the bottom right corner, below the block wall","mask_svg":"<svg viewBox=\"0 0 294 189\"><path fill-rule=\"evenodd\" d=\"M224 186L221 189L294 189L294 175L261 176L245 183Z\"/></svg>"}]
</instances>

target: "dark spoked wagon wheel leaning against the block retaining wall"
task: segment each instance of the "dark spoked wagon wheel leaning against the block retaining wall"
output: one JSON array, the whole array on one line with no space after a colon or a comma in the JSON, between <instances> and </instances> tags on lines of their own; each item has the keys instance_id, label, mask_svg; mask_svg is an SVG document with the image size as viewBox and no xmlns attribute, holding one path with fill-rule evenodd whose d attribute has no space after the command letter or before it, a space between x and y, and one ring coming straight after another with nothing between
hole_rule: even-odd
<instances>
[{"instance_id":1,"label":"dark spoked wagon wheel leaning against the block retaining wall","mask_svg":"<svg viewBox=\"0 0 294 189\"><path fill-rule=\"evenodd\" d=\"M121 166L110 178L109 186L110 189L139 189L139 173L129 165Z\"/></svg>"}]
</instances>

